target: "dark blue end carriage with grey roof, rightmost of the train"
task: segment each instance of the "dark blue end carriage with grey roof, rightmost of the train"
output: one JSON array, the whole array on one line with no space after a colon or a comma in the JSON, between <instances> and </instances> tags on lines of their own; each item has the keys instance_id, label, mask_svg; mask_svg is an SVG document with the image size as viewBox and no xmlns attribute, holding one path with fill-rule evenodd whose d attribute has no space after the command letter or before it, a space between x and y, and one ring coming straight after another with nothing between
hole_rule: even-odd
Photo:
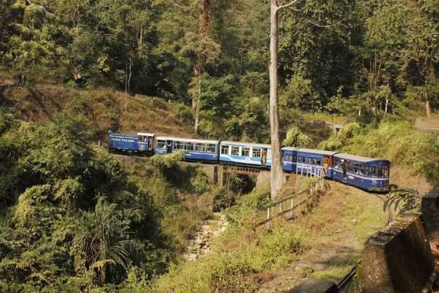
<instances>
[{"instance_id":1,"label":"dark blue end carriage with grey roof, rightmost of the train","mask_svg":"<svg viewBox=\"0 0 439 293\"><path fill-rule=\"evenodd\" d=\"M371 191L389 188L390 161L338 153L334 155L334 179Z\"/></svg>"}]
</instances>

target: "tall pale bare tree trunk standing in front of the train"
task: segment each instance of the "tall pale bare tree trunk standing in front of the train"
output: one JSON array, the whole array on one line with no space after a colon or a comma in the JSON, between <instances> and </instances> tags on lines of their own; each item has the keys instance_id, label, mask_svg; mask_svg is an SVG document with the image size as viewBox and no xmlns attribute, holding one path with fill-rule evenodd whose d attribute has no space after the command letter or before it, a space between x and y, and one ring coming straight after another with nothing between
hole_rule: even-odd
<instances>
[{"instance_id":1,"label":"tall pale bare tree trunk standing in front of the train","mask_svg":"<svg viewBox=\"0 0 439 293\"><path fill-rule=\"evenodd\" d=\"M270 132L271 132L271 197L275 198L283 183L279 140L278 97L278 6L270 0Z\"/></svg>"}]
</instances>

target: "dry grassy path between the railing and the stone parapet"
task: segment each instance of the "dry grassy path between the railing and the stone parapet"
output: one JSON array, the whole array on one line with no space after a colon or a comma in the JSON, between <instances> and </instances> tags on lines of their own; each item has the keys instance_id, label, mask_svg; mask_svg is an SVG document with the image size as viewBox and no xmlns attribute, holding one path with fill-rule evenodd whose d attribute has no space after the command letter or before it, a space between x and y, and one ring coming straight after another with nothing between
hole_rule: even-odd
<instances>
[{"instance_id":1,"label":"dry grassy path between the railing and the stone parapet","mask_svg":"<svg viewBox=\"0 0 439 293\"><path fill-rule=\"evenodd\" d=\"M372 193L331 182L319 207L294 228L311 233L310 249L284 270L270 272L259 293L283 292L308 277L338 282L361 258L368 236L385 226L382 200ZM293 228L293 229L294 229Z\"/></svg>"}]
</instances>

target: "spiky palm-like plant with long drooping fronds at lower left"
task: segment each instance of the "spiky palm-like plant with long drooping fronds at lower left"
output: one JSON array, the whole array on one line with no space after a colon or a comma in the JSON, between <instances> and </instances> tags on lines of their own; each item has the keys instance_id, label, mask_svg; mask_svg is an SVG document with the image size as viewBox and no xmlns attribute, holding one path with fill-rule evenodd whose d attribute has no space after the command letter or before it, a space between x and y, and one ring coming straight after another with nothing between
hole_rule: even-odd
<instances>
[{"instance_id":1,"label":"spiky palm-like plant with long drooping fronds at lower left","mask_svg":"<svg viewBox=\"0 0 439 293\"><path fill-rule=\"evenodd\" d=\"M118 265L126 271L130 243L129 233L115 211L116 205L98 201L94 212L81 212L78 234L74 239L86 265L97 269L100 284L105 284L107 265Z\"/></svg>"}]
</instances>

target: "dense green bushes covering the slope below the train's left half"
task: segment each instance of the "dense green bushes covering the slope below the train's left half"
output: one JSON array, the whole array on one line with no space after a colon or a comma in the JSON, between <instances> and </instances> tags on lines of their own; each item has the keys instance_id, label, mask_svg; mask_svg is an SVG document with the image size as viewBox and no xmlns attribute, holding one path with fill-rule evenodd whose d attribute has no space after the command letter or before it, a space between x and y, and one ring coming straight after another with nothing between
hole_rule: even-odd
<instances>
[{"instance_id":1,"label":"dense green bushes covering the slope below the train's left half","mask_svg":"<svg viewBox=\"0 0 439 293\"><path fill-rule=\"evenodd\" d=\"M119 162L90 143L80 112L35 123L0 107L0 290L103 292L134 271L149 279L211 217L198 168L164 169L179 157Z\"/></svg>"}]
</instances>

